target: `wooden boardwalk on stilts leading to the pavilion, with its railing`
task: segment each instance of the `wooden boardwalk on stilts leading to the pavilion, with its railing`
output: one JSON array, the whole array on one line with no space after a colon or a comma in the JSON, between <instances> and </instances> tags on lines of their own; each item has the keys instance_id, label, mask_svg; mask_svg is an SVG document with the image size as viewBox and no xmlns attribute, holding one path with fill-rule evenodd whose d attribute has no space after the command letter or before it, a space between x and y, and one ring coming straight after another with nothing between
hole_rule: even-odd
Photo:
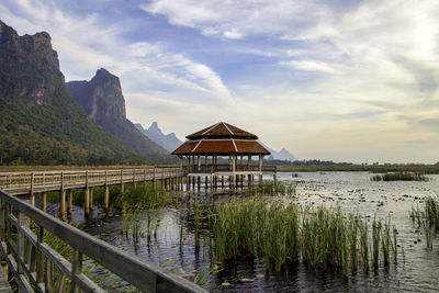
<instances>
[{"instance_id":1,"label":"wooden boardwalk on stilts leading to the pavilion, with its railing","mask_svg":"<svg viewBox=\"0 0 439 293\"><path fill-rule=\"evenodd\" d=\"M59 192L59 216L61 219L71 214L74 189L85 190L83 211L90 214L93 205L93 188L104 188L105 210L110 206L110 185L120 185L124 191L126 183L151 181L168 190L181 190L183 168L179 166L150 167L144 169L85 170L85 171L43 171L43 172L0 172L0 190L11 195L31 195L30 203L35 205L35 194L42 193L43 211L46 211L46 192ZM67 205L67 211L66 211Z\"/></svg>"}]
</instances>

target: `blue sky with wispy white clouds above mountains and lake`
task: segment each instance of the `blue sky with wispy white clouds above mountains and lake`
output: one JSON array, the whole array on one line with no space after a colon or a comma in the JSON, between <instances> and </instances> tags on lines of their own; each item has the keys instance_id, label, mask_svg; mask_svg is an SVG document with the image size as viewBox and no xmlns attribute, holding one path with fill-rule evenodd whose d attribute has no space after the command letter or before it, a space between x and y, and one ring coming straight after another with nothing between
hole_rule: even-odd
<instances>
[{"instance_id":1,"label":"blue sky with wispy white clouds above mountains and lake","mask_svg":"<svg viewBox=\"0 0 439 293\"><path fill-rule=\"evenodd\" d=\"M439 161L437 0L2 0L66 80L103 67L127 117L184 139L224 121L299 159Z\"/></svg>"}]
</instances>

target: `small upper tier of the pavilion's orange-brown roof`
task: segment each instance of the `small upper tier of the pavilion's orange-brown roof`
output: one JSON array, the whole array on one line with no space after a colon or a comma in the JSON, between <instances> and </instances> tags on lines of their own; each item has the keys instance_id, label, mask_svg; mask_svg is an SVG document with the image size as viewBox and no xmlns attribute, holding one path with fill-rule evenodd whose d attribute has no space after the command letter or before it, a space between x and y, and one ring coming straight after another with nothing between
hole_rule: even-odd
<instances>
[{"instance_id":1,"label":"small upper tier of the pavilion's orange-brown roof","mask_svg":"<svg viewBox=\"0 0 439 293\"><path fill-rule=\"evenodd\" d=\"M204 129L187 136L188 139L214 139L214 138L244 138L244 139L258 139L252 133L243 131L234 125L225 122L219 122L211 125Z\"/></svg>"}]
</instances>

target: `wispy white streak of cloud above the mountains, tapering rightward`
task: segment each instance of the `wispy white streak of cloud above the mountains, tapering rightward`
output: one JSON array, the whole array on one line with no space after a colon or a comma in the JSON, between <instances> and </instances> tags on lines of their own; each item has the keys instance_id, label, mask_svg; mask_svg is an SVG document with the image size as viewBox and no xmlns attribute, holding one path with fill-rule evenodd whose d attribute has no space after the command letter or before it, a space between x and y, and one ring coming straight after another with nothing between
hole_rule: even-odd
<instances>
[{"instance_id":1,"label":"wispy white streak of cloud above the mountains, tapering rightward","mask_svg":"<svg viewBox=\"0 0 439 293\"><path fill-rule=\"evenodd\" d=\"M4 21L19 32L49 32L67 80L86 79L98 68L106 67L120 75L123 83L125 77L135 72L155 87L180 88L204 93L211 102L233 103L227 87L209 66L173 53L160 43L126 41L124 33L130 31L128 23L102 23L98 13L76 15L52 1L11 1L8 7L0 4L0 11L4 12Z\"/></svg>"}]
</instances>

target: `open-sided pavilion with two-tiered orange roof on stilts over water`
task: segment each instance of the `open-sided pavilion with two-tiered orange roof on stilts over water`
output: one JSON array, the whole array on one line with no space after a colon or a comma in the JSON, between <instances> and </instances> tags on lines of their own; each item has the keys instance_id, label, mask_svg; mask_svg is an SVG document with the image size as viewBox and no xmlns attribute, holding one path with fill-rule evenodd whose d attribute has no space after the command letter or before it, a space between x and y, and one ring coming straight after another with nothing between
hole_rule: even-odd
<instances>
[{"instance_id":1,"label":"open-sided pavilion with two-tiered orange roof on stilts over water","mask_svg":"<svg viewBox=\"0 0 439 293\"><path fill-rule=\"evenodd\" d=\"M196 178L200 188L202 177L205 178L206 187L209 181L213 183L211 187L217 185L221 177L223 188L224 177L227 176L233 188L239 182L243 184L246 176L249 182L255 180L255 174L259 176L259 182L262 182L264 173L275 179L275 167L262 167L262 158L270 155L270 151L257 142L258 136L255 134L219 122L187 138L189 140L173 150L172 155L188 158L188 187L191 180L194 185ZM254 156L258 158L256 166L252 165ZM228 157L228 164L217 164L218 157Z\"/></svg>"}]
</instances>

